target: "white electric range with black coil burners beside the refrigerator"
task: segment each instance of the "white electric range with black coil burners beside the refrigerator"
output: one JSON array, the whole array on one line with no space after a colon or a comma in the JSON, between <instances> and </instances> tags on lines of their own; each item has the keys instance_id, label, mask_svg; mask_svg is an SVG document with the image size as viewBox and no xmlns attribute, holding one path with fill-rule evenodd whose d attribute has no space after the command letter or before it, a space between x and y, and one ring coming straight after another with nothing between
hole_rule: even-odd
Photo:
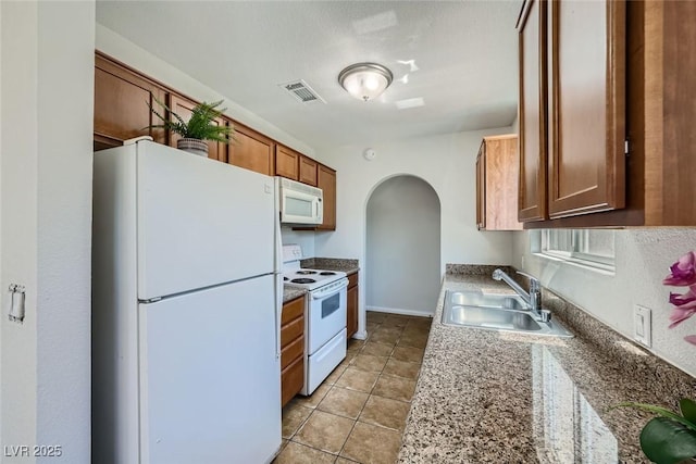
<instances>
[{"instance_id":1,"label":"white electric range with black coil burners beside the refrigerator","mask_svg":"<svg viewBox=\"0 0 696 464\"><path fill-rule=\"evenodd\" d=\"M346 358L348 279L340 271L300 267L302 249L283 246L283 283L308 291L304 306L304 387L312 394Z\"/></svg>"}]
</instances>

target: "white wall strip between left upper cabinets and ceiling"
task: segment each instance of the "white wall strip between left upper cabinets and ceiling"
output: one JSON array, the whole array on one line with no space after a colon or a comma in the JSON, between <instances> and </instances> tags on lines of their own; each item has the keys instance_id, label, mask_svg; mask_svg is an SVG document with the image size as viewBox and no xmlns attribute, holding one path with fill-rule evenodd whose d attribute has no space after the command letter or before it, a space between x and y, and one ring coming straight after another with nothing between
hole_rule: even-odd
<instances>
[{"instance_id":1,"label":"white wall strip between left upper cabinets and ceiling","mask_svg":"<svg viewBox=\"0 0 696 464\"><path fill-rule=\"evenodd\" d=\"M127 64L140 73L170 86L171 88L199 101L224 99L225 114L235 121L259 130L281 143L298 150L308 156L314 156L314 149L278 127L238 105L225 96L199 83L182 71L162 61L149 51L117 35L113 30L97 24L96 48L108 55ZM145 104L145 103L142 103Z\"/></svg>"}]
</instances>

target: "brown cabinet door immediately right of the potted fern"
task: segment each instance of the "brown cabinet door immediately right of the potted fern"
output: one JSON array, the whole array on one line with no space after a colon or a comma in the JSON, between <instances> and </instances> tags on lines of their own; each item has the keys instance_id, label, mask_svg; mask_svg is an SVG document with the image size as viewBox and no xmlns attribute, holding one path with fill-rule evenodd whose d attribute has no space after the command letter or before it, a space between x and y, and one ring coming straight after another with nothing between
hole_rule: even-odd
<instances>
[{"instance_id":1,"label":"brown cabinet door immediately right of the potted fern","mask_svg":"<svg viewBox=\"0 0 696 464\"><path fill-rule=\"evenodd\" d=\"M234 124L235 139L227 149L227 163L272 176L275 173L275 143L240 124Z\"/></svg>"}]
</instances>

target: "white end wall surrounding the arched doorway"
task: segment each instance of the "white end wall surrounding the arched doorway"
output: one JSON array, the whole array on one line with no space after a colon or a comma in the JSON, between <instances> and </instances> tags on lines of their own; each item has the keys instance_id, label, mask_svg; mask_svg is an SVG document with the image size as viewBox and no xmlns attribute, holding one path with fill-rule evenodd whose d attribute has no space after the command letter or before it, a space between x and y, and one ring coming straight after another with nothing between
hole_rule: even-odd
<instances>
[{"instance_id":1,"label":"white end wall surrounding the arched doorway","mask_svg":"<svg viewBox=\"0 0 696 464\"><path fill-rule=\"evenodd\" d=\"M482 138L510 134L510 127L385 142L372 148L366 161L364 146L346 146L322 153L322 162L337 171L337 225L334 233L316 233L320 256L365 259L365 209L372 190L398 174L421 177L440 199L440 273L446 263L505 264L510 262L509 231L476 230L475 161ZM361 278L369 269L363 267ZM360 292L360 326L364 330L364 291Z\"/></svg>"}]
</instances>

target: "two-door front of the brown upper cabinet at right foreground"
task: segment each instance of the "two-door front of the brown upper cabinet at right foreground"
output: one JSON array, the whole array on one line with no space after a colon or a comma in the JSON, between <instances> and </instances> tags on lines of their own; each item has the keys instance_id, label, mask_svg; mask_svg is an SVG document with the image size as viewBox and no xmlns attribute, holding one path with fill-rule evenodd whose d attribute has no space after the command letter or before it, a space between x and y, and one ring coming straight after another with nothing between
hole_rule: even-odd
<instances>
[{"instance_id":1,"label":"two-door front of the brown upper cabinet at right foreground","mask_svg":"<svg viewBox=\"0 0 696 464\"><path fill-rule=\"evenodd\" d=\"M625 2L527 1L519 37L520 220L624 208Z\"/></svg>"}]
</instances>

